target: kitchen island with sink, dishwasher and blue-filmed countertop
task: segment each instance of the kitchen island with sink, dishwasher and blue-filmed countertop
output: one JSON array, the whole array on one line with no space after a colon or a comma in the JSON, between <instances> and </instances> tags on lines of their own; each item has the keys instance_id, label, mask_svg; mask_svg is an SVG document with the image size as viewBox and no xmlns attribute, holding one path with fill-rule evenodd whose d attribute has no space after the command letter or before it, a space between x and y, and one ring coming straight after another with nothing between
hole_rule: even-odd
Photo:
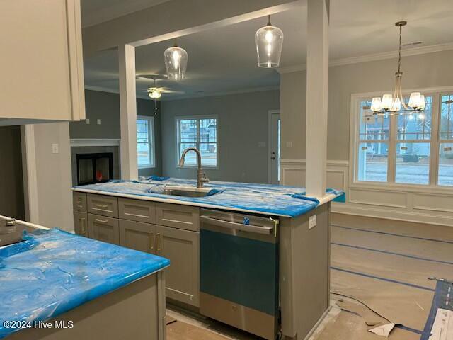
<instances>
[{"instance_id":1,"label":"kitchen island with sink, dishwasher and blue-filmed countertop","mask_svg":"<svg viewBox=\"0 0 453 340\"><path fill-rule=\"evenodd\" d=\"M265 339L305 339L328 312L330 204L343 193L195 185L154 177L74 187L76 232L170 259L168 302Z\"/></svg>"}]
</instances>

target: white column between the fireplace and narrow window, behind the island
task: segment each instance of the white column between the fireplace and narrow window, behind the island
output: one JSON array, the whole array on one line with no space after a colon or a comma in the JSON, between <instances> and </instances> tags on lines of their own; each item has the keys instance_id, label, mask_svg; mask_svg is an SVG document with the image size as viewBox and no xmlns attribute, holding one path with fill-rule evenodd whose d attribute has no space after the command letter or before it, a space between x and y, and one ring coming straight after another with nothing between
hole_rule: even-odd
<instances>
[{"instance_id":1,"label":"white column between the fireplace and narrow window, behind the island","mask_svg":"<svg viewBox=\"0 0 453 340\"><path fill-rule=\"evenodd\" d=\"M121 178L137 179L137 96L135 91L135 47L118 47L120 74Z\"/></svg>"}]
</instances>

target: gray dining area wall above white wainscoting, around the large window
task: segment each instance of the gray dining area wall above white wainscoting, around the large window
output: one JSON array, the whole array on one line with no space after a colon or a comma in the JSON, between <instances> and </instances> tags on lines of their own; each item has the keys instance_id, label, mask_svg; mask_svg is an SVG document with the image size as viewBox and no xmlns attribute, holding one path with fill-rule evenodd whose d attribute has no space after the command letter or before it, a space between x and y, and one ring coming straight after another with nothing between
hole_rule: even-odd
<instances>
[{"instance_id":1,"label":"gray dining area wall above white wainscoting, around the large window","mask_svg":"<svg viewBox=\"0 0 453 340\"><path fill-rule=\"evenodd\" d=\"M403 89L453 85L453 50L403 57ZM350 95L394 89L396 59L329 68L327 159L349 159ZM282 159L305 159L306 72L280 76ZM292 142L287 147L286 142ZM316 145L310 145L316 147Z\"/></svg>"}]
</instances>

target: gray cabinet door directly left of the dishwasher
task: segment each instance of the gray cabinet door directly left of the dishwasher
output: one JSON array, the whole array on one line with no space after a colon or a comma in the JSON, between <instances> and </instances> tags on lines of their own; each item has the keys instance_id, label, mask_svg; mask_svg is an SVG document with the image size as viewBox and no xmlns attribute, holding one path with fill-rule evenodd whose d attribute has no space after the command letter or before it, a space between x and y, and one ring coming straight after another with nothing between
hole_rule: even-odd
<instances>
[{"instance_id":1,"label":"gray cabinet door directly left of the dishwasher","mask_svg":"<svg viewBox=\"0 0 453 340\"><path fill-rule=\"evenodd\" d=\"M156 254L170 260L166 296L200 306L200 233L156 226Z\"/></svg>"}]
</instances>

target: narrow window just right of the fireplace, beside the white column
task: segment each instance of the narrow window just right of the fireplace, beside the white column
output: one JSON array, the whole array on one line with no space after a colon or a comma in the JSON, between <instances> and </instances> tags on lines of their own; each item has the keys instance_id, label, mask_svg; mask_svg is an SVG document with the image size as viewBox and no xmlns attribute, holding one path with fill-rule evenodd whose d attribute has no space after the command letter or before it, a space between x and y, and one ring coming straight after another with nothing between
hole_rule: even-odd
<instances>
[{"instance_id":1,"label":"narrow window just right of the fireplace, beside the white column","mask_svg":"<svg viewBox=\"0 0 453 340\"><path fill-rule=\"evenodd\" d=\"M137 117L137 165L154 168L154 118Z\"/></svg>"}]
</instances>

